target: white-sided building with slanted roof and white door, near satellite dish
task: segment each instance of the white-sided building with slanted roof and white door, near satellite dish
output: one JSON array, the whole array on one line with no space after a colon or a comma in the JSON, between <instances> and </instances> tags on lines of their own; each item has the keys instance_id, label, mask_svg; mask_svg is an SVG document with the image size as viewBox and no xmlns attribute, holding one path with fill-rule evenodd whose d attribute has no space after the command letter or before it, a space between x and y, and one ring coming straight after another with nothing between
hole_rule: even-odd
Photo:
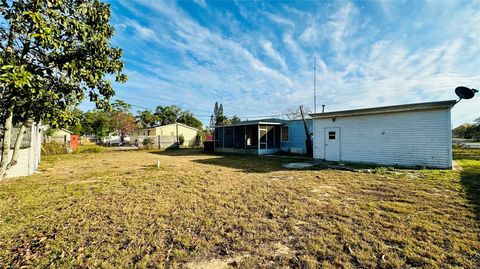
<instances>
[{"instance_id":1,"label":"white-sided building with slanted roof and white door, near satellite dish","mask_svg":"<svg viewBox=\"0 0 480 269\"><path fill-rule=\"evenodd\" d=\"M452 167L450 111L441 101L311 114L313 157L405 167Z\"/></svg>"}]
</instances>

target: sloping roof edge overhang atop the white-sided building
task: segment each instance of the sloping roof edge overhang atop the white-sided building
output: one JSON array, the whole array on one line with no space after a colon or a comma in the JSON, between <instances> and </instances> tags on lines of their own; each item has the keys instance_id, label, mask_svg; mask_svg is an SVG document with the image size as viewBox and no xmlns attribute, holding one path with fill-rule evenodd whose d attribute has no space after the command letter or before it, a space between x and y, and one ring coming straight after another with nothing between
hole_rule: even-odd
<instances>
[{"instance_id":1,"label":"sloping roof edge overhang atop the white-sided building","mask_svg":"<svg viewBox=\"0 0 480 269\"><path fill-rule=\"evenodd\" d=\"M443 109L451 108L456 103L457 101L455 100L448 100L448 101L440 101L440 102L416 103L416 104L406 104L406 105L343 110L343 111L334 111L334 112L326 112L326 113L314 113L314 114L310 114L310 116L314 119L324 119L324 118L333 118L333 117L350 117L350 116L361 116L361 115L371 115L371 114L434 110L434 109L442 109L442 108Z\"/></svg>"}]
</instances>

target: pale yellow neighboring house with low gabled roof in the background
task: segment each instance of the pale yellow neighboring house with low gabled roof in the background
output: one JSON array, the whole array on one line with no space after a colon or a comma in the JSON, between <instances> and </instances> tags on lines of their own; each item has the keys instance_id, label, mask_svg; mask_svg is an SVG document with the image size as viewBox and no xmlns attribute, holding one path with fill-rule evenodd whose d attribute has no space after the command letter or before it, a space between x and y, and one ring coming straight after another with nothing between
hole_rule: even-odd
<instances>
[{"instance_id":1,"label":"pale yellow neighboring house with low gabled roof in the background","mask_svg":"<svg viewBox=\"0 0 480 269\"><path fill-rule=\"evenodd\" d=\"M182 137L181 147L194 147L200 144L198 129L181 123L136 129L130 134L131 141L138 146L142 146L143 141L149 138L153 148L178 147Z\"/></svg>"}]
</instances>

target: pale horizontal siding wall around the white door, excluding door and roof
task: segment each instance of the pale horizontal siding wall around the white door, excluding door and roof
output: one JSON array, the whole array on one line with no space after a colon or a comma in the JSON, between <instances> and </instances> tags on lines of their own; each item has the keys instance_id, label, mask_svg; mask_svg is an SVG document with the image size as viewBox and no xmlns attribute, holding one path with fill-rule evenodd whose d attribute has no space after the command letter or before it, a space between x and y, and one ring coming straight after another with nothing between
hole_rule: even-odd
<instances>
[{"instance_id":1,"label":"pale horizontal siding wall around the white door, excluding door and roof","mask_svg":"<svg viewBox=\"0 0 480 269\"><path fill-rule=\"evenodd\" d=\"M451 168L450 109L314 119L314 158L324 159L325 128L339 127L340 160Z\"/></svg>"}]
</instances>

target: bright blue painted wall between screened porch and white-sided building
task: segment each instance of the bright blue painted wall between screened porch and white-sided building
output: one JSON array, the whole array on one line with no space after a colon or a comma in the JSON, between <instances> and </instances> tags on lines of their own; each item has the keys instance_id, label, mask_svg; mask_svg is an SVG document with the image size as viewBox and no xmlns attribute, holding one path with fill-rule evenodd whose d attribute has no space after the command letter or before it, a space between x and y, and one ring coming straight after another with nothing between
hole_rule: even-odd
<instances>
[{"instance_id":1,"label":"bright blue painted wall between screened porch and white-sided building","mask_svg":"<svg viewBox=\"0 0 480 269\"><path fill-rule=\"evenodd\" d=\"M313 120L308 119L307 125L310 133L313 134ZM283 126L288 126L289 141L280 143L282 151L289 152L289 153L299 153L299 154L307 153L307 148L305 145L305 140L307 139L307 136L305 135L305 128L303 127L303 121L302 120L285 121Z\"/></svg>"}]
</instances>

